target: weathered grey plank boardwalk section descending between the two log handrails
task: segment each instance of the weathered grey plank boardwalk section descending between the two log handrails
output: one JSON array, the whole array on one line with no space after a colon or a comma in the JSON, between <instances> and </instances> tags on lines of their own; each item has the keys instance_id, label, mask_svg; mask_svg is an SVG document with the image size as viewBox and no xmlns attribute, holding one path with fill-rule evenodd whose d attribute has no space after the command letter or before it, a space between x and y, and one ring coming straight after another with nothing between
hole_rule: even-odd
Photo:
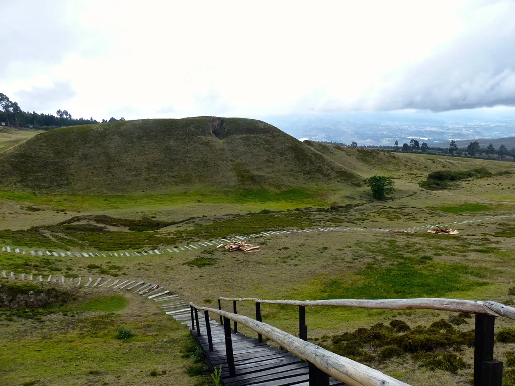
<instances>
[{"instance_id":1,"label":"weathered grey plank boardwalk section descending between the two log handrails","mask_svg":"<svg viewBox=\"0 0 515 386\"><path fill-rule=\"evenodd\" d=\"M286 350L270 347L266 343L259 343L258 339L247 337L241 332L235 334L234 330L231 330L231 335L236 377L230 378L226 358L224 326L210 319L213 340L213 351L210 352L204 314L201 312L198 314L200 327L200 334L198 334L196 327L195 330L192 330L190 309L186 309L184 304L185 302L182 301L180 306L176 306L177 309L182 310L170 313L170 316L190 328L211 367L222 366L222 383L225 386L309 385L307 362ZM344 383L334 378L331 378L330 384L331 386L345 386Z\"/></svg>"}]
</instances>

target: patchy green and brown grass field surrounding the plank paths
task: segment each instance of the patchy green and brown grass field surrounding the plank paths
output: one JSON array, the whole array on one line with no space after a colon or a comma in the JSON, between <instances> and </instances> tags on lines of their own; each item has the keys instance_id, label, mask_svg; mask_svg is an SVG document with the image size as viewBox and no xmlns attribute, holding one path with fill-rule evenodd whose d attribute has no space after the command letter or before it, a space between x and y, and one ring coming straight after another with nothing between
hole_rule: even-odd
<instances>
[{"instance_id":1,"label":"patchy green and brown grass field surrounding the plank paths","mask_svg":"<svg viewBox=\"0 0 515 386\"><path fill-rule=\"evenodd\" d=\"M86 245L100 251L127 250L294 227L403 229L515 213L515 177L510 174L466 179L452 189L441 191L428 191L418 185L435 170L486 167L497 173L512 170L513 163L485 160L476 163L469 159L447 160L413 154L395 154L395 159L389 159L390 155L354 154L353 149L345 149L348 167L361 177L382 174L388 169L385 174L396 181L397 191L392 197L377 202L371 199L367 188L347 185L341 189L334 186L286 190L187 189L167 194L98 196L3 190L0 243L33 248ZM324 151L341 152L330 148ZM333 156L336 162L345 161ZM115 220L82 219L59 224L83 215L108 215ZM161 225L154 227L151 221ZM131 226L144 224L152 230L129 230ZM95 231L94 226L105 226L106 230ZM210 306L216 305L218 296L264 299L441 296L515 304L515 295L509 293L515 286L513 220L485 220L457 224L456 228L460 232L457 236L423 231L407 235L359 231L277 235L260 240L261 252L250 255L214 248L172 255L109 258L0 253L0 270L66 277L131 277L159 283L188 301ZM40 320L10 311L0 316L0 367L7 369L6 384L32 381L45 385L62 382L209 384L207 377L188 376L192 360L183 356L192 350L192 345L187 331L160 313L151 302L129 295L113 295L108 290L100 296L97 293L97 297L87 291L75 296L75 300L57 311L40 314ZM223 306L231 309L228 302ZM253 316L254 311L252 302L238 304L239 313ZM379 322L389 325L394 319L406 322L411 328L428 327L440 319L451 321L452 316L444 311L336 307L306 311L310 340L335 350L349 347L333 347L334 338L357 328L370 328ZM298 333L296 307L264 304L262 317L266 323ZM514 327L506 319L498 319L496 326L499 330ZM114 336L120 327L129 328L135 337L128 342L116 340ZM453 328L465 333L473 328L473 323L466 321ZM514 348L512 343L496 343L496 358L505 360ZM380 361L379 347L364 345L359 349L362 350L359 358L364 363L413 385L465 385L472 374L467 366L457 372L429 370L421 365L425 362L409 353ZM13 350L19 353L16 360L10 359ZM460 350L447 347L440 351L456 354L468 365L472 363L472 349L466 345ZM59 361L62 366L55 365ZM150 376L154 370L159 376Z\"/></svg>"}]
</instances>

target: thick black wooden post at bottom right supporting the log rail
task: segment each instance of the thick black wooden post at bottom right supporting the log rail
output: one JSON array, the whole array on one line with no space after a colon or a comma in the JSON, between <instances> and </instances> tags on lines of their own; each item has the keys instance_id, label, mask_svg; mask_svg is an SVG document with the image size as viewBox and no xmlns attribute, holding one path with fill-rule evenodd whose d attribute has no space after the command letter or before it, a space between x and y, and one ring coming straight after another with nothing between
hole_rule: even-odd
<instances>
[{"instance_id":1,"label":"thick black wooden post at bottom right supporting the log rail","mask_svg":"<svg viewBox=\"0 0 515 386\"><path fill-rule=\"evenodd\" d=\"M474 386L501 386L503 362L493 360L495 317L476 313Z\"/></svg>"}]
</instances>

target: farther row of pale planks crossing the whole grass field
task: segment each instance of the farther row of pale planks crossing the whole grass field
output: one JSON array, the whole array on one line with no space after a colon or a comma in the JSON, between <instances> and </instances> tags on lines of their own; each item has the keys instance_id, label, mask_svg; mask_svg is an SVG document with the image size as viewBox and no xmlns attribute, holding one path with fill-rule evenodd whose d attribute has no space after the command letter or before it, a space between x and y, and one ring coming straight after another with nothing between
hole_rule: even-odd
<instances>
[{"instance_id":1,"label":"farther row of pale planks crossing the whole grass field","mask_svg":"<svg viewBox=\"0 0 515 386\"><path fill-rule=\"evenodd\" d=\"M488 216L484 217L485 220L495 220L498 218L506 218L506 217L515 217L515 214L509 214L509 215L497 215L497 216ZM452 224L469 224L474 222L482 222L483 220L479 219L473 219L473 220L464 220L464 221L454 221ZM406 229L403 229L404 231L418 231L418 230L427 230L427 229L433 229L436 226L443 226L443 227L451 227L452 224L434 224L434 225L423 225L423 226L413 226ZM56 257L73 257L76 255L77 257L107 257L107 255L111 257L130 257L130 256L141 256L141 255L161 255L165 253L179 253L181 251L186 250L196 250L200 249L202 247L210 247L210 246L217 246L220 244L232 242L232 241L243 241L247 240L251 237L264 237L264 236L273 236L273 235L284 235L284 234L293 234L293 233L312 233L312 232L332 232L332 231L372 231L372 232L388 232L389 229L381 229L381 228L356 228L356 227L321 227L321 228L310 228L310 229L301 229L301 230L289 230L289 231L267 231L267 232L260 232L260 233L251 233L250 235L246 236L234 236L234 237L225 237L220 239L214 239L210 241L202 241L197 243L192 243L188 245L184 245L183 247L177 247L177 248L166 248L166 249L153 249L148 251L140 251L140 252L106 252L106 253L92 253L92 252L50 252L50 251L28 251L31 255L48 255L48 256L56 256ZM26 254L26 250L20 250L19 248L14 247L2 247L2 252L14 252L14 253L21 253Z\"/></svg>"}]
</instances>

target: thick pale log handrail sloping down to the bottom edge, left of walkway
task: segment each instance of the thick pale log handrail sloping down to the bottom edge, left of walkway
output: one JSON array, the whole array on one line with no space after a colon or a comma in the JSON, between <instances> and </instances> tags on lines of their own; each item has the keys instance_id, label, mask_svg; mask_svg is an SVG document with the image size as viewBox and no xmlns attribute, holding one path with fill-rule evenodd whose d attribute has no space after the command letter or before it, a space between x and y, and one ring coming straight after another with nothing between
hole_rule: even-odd
<instances>
[{"instance_id":1,"label":"thick pale log handrail sloping down to the bottom edge, left of walkway","mask_svg":"<svg viewBox=\"0 0 515 386\"><path fill-rule=\"evenodd\" d=\"M247 299L247 300L250 300ZM269 324L258 322L244 315L222 311L211 307L200 307L190 302L197 310L209 311L241 323L252 331L285 348L298 358L313 363L326 374L348 384L349 386L409 386L407 383L392 378L380 371L349 358L341 357L314 343L303 341Z\"/></svg>"}]
</instances>

